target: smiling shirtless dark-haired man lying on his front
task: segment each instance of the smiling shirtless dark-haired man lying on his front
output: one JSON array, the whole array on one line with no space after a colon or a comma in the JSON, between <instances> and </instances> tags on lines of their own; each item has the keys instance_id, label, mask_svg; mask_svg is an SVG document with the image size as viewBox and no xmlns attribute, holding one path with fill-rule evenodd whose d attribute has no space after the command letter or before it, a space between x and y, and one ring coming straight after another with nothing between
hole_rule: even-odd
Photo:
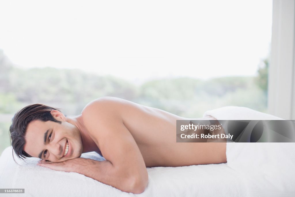
<instances>
[{"instance_id":1,"label":"smiling shirtless dark-haired man lying on his front","mask_svg":"<svg viewBox=\"0 0 295 197\"><path fill-rule=\"evenodd\" d=\"M211 116L200 120L216 120ZM163 110L115 97L90 102L68 118L58 109L33 104L12 120L12 146L20 158L38 157L38 165L77 172L125 192L142 193L146 167L226 163L226 143L176 143L176 120ZM96 151L106 160L81 158Z\"/></svg>"}]
</instances>

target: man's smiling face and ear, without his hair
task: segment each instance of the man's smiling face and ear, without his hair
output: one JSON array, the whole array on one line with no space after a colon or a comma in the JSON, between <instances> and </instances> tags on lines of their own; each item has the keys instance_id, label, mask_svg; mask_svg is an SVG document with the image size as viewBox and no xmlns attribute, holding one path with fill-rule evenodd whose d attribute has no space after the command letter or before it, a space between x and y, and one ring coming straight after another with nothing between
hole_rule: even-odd
<instances>
[{"instance_id":1,"label":"man's smiling face and ear, without his hair","mask_svg":"<svg viewBox=\"0 0 295 197\"><path fill-rule=\"evenodd\" d=\"M80 131L68 123L62 113L54 111L52 114L62 123L39 120L30 122L25 135L24 151L32 157L51 162L80 157L83 150Z\"/></svg>"}]
</instances>

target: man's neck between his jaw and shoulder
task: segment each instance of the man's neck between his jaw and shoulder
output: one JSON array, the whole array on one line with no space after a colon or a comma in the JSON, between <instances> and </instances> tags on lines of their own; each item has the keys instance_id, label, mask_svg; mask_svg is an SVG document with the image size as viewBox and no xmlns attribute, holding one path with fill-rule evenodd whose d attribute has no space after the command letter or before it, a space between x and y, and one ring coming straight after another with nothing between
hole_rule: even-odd
<instances>
[{"instance_id":1,"label":"man's neck between his jaw and shoulder","mask_svg":"<svg viewBox=\"0 0 295 197\"><path fill-rule=\"evenodd\" d=\"M89 135L89 132L87 131L87 129L85 128L85 126L83 124L82 115L78 115L73 118L67 117L67 122L76 126L77 129L80 131L82 144L83 144L83 152L82 153L99 150L98 146L92 140L91 136Z\"/></svg>"}]
</instances>

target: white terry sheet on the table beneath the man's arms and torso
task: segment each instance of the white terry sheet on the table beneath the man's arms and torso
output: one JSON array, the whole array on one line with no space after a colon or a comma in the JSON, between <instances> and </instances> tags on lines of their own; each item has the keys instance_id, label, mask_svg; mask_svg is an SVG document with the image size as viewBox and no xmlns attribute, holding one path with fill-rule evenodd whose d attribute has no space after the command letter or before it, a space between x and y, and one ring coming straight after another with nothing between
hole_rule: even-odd
<instances>
[{"instance_id":1,"label":"white terry sheet on the table beneath the man's arms and torso","mask_svg":"<svg viewBox=\"0 0 295 197\"><path fill-rule=\"evenodd\" d=\"M82 155L96 160L104 159L95 152ZM75 172L60 172L37 166L37 158L28 158L27 163L16 160L21 166L15 164L11 147L7 147L0 157L0 188L24 188L25 195L22 196L178 197L247 194L243 178L227 164L147 168L148 187L141 194L132 194Z\"/></svg>"}]
</instances>

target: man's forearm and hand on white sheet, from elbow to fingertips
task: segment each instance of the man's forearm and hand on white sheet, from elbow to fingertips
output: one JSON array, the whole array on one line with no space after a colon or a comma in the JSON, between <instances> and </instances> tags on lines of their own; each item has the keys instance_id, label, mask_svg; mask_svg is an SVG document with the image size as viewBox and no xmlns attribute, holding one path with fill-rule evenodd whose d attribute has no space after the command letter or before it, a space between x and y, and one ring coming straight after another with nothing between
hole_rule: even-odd
<instances>
[{"instance_id":1,"label":"man's forearm and hand on white sheet, from elbow to fingertips","mask_svg":"<svg viewBox=\"0 0 295 197\"><path fill-rule=\"evenodd\" d=\"M121 166L116 168L108 160L96 161L78 157L59 163L42 160L37 165L53 170L77 172L125 192L142 193L148 184L146 168L141 170L135 166L130 166L129 169L126 169L126 166L125 169ZM133 170L130 170L131 168Z\"/></svg>"}]
</instances>

